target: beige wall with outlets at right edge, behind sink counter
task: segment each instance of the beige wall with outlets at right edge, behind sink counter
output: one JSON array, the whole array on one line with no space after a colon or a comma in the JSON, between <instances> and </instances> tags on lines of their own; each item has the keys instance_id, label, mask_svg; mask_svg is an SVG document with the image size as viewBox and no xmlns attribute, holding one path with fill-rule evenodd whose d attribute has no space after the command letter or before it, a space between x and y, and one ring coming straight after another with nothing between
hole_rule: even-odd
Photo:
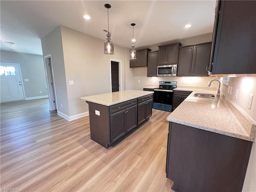
<instances>
[{"instance_id":1,"label":"beige wall with outlets at right edge, behind sink counter","mask_svg":"<svg viewBox=\"0 0 256 192\"><path fill-rule=\"evenodd\" d=\"M231 95L228 94L228 86L232 86ZM235 99L236 89L238 89L238 97ZM256 121L256 77L233 77L229 83L222 84L221 88L225 96L235 102L244 112L246 112L252 120ZM252 107L248 109L247 103L249 94L253 94ZM252 144L250 160L244 180L243 192L256 191L256 144Z\"/></svg>"}]
</instances>

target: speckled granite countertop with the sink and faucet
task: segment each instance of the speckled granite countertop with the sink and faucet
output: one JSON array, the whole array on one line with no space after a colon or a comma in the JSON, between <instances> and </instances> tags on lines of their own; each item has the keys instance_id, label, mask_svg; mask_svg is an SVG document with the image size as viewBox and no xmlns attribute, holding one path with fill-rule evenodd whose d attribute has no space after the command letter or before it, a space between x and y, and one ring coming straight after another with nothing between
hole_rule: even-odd
<instances>
[{"instance_id":1,"label":"speckled granite countertop with the sink and faucet","mask_svg":"<svg viewBox=\"0 0 256 192\"><path fill-rule=\"evenodd\" d=\"M198 98L195 93L209 93L216 97L217 90L176 88L175 90L193 91L168 117L170 122L232 136L255 142L256 124L249 116L233 113L230 100L221 94L220 98Z\"/></svg>"}]
</instances>

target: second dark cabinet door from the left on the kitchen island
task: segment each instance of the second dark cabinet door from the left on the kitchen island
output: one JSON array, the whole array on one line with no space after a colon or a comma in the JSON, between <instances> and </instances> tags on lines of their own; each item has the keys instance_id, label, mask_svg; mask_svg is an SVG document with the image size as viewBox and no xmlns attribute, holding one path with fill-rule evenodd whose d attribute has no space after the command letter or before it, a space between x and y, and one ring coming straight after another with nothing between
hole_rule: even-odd
<instances>
[{"instance_id":1,"label":"second dark cabinet door from the left on the kitchen island","mask_svg":"<svg viewBox=\"0 0 256 192\"><path fill-rule=\"evenodd\" d=\"M137 127L137 105L126 109L126 132Z\"/></svg>"}]
</instances>

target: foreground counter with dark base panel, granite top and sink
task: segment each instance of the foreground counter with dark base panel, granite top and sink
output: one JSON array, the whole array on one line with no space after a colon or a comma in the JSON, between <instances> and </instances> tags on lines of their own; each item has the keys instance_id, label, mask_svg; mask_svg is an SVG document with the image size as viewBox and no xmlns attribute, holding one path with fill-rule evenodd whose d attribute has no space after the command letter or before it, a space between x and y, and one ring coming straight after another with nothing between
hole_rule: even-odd
<instances>
[{"instance_id":1,"label":"foreground counter with dark base panel, granite top and sink","mask_svg":"<svg viewBox=\"0 0 256 192\"><path fill-rule=\"evenodd\" d=\"M182 90L182 89L180 89ZM177 192L242 191L256 124L223 94L197 98L193 91L167 117L166 177Z\"/></svg>"}]
</instances>

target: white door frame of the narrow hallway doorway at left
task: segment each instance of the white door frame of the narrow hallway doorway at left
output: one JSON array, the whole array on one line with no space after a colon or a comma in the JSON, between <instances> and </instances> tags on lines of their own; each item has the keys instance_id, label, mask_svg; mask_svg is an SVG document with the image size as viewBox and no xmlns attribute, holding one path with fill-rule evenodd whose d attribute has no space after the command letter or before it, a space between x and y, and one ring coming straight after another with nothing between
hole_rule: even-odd
<instances>
[{"instance_id":1,"label":"white door frame of the narrow hallway doorway at left","mask_svg":"<svg viewBox=\"0 0 256 192\"><path fill-rule=\"evenodd\" d=\"M52 54L46 55L44 56L44 70L45 70L45 75L46 75L46 83L47 83L47 90L48 90L48 95L49 95L49 102L50 102L50 110L57 110L58 111L58 104L57 104L57 94L56 94L56 88L55 88L55 80L54 80L54 70L53 70L53 65L52 65L52 80L53 80L53 88L54 88L54 93L55 93L55 97L54 97L54 93L53 90L51 88L51 74L48 74L48 59L51 59L51 64L52 64ZM54 100L55 100L55 104L54 104ZM55 106L55 108L53 107Z\"/></svg>"}]
</instances>

